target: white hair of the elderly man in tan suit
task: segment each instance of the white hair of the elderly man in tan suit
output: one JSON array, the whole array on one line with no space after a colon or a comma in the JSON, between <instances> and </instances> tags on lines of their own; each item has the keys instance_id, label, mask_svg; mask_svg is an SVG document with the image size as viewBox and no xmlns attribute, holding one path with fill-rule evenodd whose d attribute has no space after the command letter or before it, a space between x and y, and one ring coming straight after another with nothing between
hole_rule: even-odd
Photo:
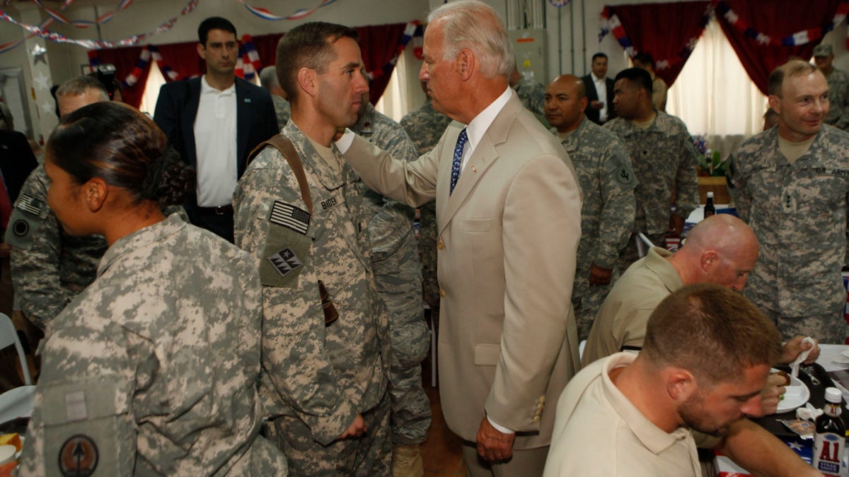
<instances>
[{"instance_id":1,"label":"white hair of the elderly man in tan suit","mask_svg":"<svg viewBox=\"0 0 849 477\"><path fill-rule=\"evenodd\" d=\"M515 65L513 43L498 14L478 0L445 3L430 12L428 22L442 25L442 59L455 59L469 48L481 61L486 77L508 76Z\"/></svg>"}]
</instances>

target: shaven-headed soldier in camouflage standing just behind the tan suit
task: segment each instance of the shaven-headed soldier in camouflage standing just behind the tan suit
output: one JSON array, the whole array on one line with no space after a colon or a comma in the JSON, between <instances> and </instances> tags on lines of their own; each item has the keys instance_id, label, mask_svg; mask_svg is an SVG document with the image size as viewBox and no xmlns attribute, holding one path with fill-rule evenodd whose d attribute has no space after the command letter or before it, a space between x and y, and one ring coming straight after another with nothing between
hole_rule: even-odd
<instances>
[{"instance_id":1,"label":"shaven-headed soldier in camouflage standing just behind the tan suit","mask_svg":"<svg viewBox=\"0 0 849 477\"><path fill-rule=\"evenodd\" d=\"M572 288L578 340L589 336L599 306L619 275L616 261L633 227L637 187L625 146L616 134L588 120L587 103L586 87L577 76L558 76L545 91L545 117L569 153L583 196Z\"/></svg>"}]
</instances>

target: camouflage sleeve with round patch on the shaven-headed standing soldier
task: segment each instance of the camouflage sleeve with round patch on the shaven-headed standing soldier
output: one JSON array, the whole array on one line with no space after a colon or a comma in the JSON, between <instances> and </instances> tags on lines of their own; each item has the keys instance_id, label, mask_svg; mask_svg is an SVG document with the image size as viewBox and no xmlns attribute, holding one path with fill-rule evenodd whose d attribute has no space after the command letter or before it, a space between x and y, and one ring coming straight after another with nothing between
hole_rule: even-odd
<instances>
[{"instance_id":1,"label":"camouflage sleeve with round patch on the shaven-headed standing soldier","mask_svg":"<svg viewBox=\"0 0 849 477\"><path fill-rule=\"evenodd\" d=\"M604 209L599 217L599 254L593 263L611 269L616 266L619 250L625 247L633 230L637 208L633 190L638 181L627 149L618 138L604 152L602 167Z\"/></svg>"}]
</instances>

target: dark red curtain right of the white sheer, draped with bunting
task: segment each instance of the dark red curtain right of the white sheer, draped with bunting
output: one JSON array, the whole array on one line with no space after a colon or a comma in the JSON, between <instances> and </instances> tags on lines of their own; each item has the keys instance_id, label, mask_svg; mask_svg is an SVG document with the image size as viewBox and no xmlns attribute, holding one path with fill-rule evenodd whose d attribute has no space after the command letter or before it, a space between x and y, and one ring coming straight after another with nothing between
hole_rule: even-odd
<instances>
[{"instance_id":1,"label":"dark red curtain right of the white sheer, draped with bunting","mask_svg":"<svg viewBox=\"0 0 849 477\"><path fill-rule=\"evenodd\" d=\"M809 31L809 35L819 31L821 35L823 28L830 28L824 25L829 25L834 19L840 3L841 0L725 0L717 4L717 20L751 81L755 82L761 93L768 94L769 73L786 63L790 57L806 61L810 59L813 48L822 41L822 37L798 46L776 46L758 42L757 34L762 33L773 39L787 38L799 31ZM726 18L728 8L739 17L737 25L732 25ZM743 30L744 26L748 28Z\"/></svg>"}]
</instances>

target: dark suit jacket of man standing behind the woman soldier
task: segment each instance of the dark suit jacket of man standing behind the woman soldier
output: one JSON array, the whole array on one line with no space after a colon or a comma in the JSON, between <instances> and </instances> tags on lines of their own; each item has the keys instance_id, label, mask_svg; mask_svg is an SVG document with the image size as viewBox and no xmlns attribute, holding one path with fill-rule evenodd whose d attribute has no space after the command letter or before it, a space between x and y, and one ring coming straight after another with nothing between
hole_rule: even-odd
<instances>
[{"instance_id":1,"label":"dark suit jacket of man standing behind the woman soldier","mask_svg":"<svg viewBox=\"0 0 849 477\"><path fill-rule=\"evenodd\" d=\"M194 116L200 104L200 77L162 85L154 121L189 166L196 167ZM257 144L280 132L271 95L265 89L236 78L236 160L238 177L245 172L248 154Z\"/></svg>"}]
</instances>

